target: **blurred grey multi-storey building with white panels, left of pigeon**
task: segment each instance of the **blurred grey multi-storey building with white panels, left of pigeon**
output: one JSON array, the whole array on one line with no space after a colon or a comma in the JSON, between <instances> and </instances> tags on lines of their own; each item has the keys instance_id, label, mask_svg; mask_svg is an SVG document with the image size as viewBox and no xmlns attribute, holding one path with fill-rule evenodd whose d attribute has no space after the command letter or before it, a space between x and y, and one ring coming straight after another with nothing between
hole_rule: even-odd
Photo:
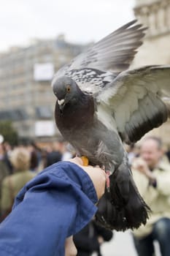
<instances>
[{"instance_id":1,"label":"blurred grey multi-storey building with white panels, left of pigeon","mask_svg":"<svg viewBox=\"0 0 170 256\"><path fill-rule=\"evenodd\" d=\"M11 120L20 138L55 135L51 80L87 47L70 44L60 36L0 53L0 121Z\"/></svg>"}]
</instances>

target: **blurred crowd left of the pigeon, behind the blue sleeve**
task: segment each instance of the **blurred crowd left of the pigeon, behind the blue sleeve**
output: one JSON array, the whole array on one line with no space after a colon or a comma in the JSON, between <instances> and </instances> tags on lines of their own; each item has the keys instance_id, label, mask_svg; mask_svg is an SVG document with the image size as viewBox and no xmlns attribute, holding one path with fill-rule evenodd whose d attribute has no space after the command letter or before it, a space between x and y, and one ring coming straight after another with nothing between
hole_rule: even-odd
<instances>
[{"instance_id":1,"label":"blurred crowd left of the pigeon, behind the blue sleeve","mask_svg":"<svg viewBox=\"0 0 170 256\"><path fill-rule=\"evenodd\" d=\"M31 178L55 162L74 157L74 151L63 140L56 140L40 148L35 143L11 146L0 143L1 220L12 209L15 196Z\"/></svg>"}]
</instances>

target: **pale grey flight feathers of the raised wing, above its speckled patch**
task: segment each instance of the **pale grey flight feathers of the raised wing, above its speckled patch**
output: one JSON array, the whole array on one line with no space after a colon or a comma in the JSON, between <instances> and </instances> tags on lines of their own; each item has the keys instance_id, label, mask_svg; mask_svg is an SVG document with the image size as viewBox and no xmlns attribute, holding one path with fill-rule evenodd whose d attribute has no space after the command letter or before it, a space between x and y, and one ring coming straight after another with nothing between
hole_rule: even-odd
<instances>
[{"instance_id":1,"label":"pale grey flight feathers of the raised wing, above its speckled patch","mask_svg":"<svg viewBox=\"0 0 170 256\"><path fill-rule=\"evenodd\" d=\"M135 23L136 20L133 20L104 37L70 64L59 69L56 75L63 76L69 70L87 67L115 73L127 69L144 37L145 29L142 29L142 25L134 25Z\"/></svg>"}]
</instances>

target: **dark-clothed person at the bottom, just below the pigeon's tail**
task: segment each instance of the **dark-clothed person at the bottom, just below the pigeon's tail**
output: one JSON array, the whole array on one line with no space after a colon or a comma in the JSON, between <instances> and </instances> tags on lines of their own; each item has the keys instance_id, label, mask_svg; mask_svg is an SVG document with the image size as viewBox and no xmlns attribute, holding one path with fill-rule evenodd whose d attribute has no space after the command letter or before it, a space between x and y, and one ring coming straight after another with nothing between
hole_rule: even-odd
<instances>
[{"instance_id":1,"label":"dark-clothed person at the bottom, just below the pigeon's tail","mask_svg":"<svg viewBox=\"0 0 170 256\"><path fill-rule=\"evenodd\" d=\"M104 241L110 241L112 238L112 231L104 227L98 226L93 220L86 225L79 233L74 235L74 244L77 248L77 256L90 256L96 252L101 256L101 244Z\"/></svg>"}]
</instances>

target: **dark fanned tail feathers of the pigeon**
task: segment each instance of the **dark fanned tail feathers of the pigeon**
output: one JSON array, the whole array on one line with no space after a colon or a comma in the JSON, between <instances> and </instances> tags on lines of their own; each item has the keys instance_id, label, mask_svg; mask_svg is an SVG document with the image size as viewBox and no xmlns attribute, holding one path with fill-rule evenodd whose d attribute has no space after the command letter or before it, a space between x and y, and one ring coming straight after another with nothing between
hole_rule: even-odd
<instances>
[{"instance_id":1,"label":"dark fanned tail feathers of the pigeon","mask_svg":"<svg viewBox=\"0 0 170 256\"><path fill-rule=\"evenodd\" d=\"M110 176L110 193L106 190L98 201L96 221L111 230L133 230L146 224L149 213L150 208L139 195L131 171L120 165Z\"/></svg>"}]
</instances>

